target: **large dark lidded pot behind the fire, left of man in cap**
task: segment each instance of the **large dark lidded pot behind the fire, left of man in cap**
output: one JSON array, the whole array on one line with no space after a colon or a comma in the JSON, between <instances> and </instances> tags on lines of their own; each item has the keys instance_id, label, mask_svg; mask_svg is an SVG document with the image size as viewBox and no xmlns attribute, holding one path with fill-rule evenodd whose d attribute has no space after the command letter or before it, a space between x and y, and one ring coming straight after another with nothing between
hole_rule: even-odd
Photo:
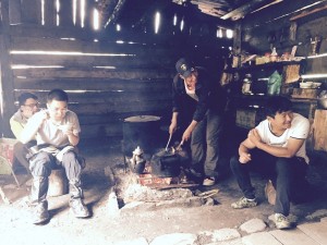
<instances>
[{"instance_id":1,"label":"large dark lidded pot behind the fire, left of man in cap","mask_svg":"<svg viewBox=\"0 0 327 245\"><path fill-rule=\"evenodd\" d=\"M153 154L161 138L160 118L155 115L136 115L124 119L122 151L132 156L140 146L145 154Z\"/></svg>"}]
</instances>

